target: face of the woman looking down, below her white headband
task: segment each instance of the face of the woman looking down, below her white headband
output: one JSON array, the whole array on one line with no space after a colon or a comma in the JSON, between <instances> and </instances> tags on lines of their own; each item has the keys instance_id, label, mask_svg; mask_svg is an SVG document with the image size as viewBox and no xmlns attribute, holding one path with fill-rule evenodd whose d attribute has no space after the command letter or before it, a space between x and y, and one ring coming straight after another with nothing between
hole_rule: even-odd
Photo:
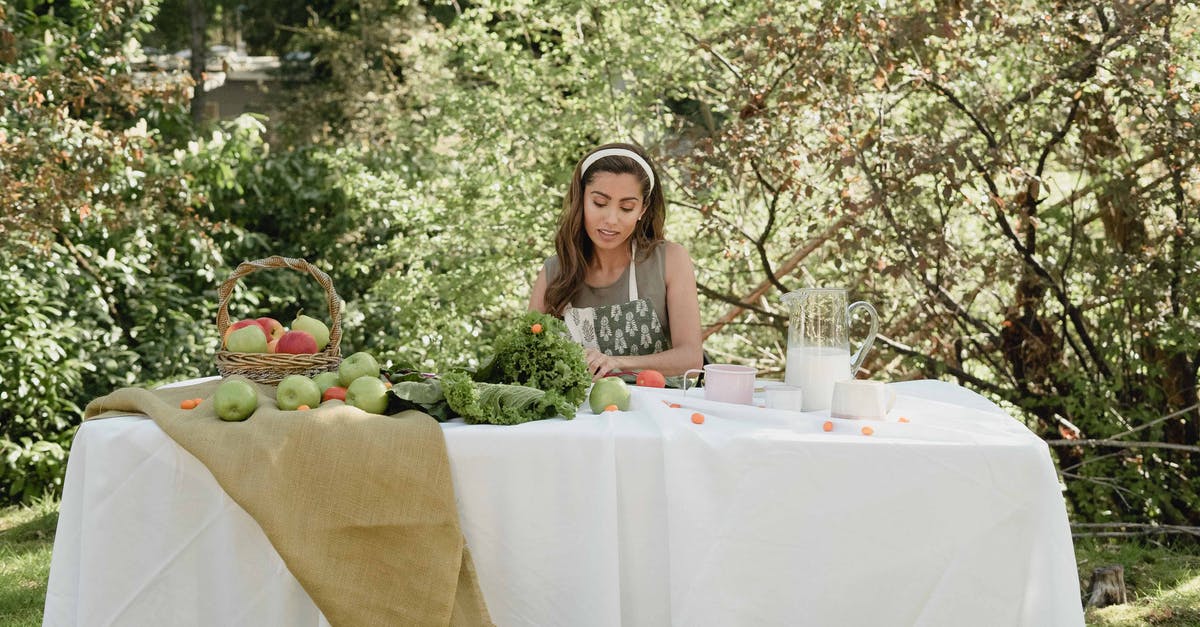
<instances>
[{"instance_id":1,"label":"face of the woman looking down, below her white headband","mask_svg":"<svg viewBox=\"0 0 1200 627\"><path fill-rule=\"evenodd\" d=\"M642 181L632 174L596 172L583 187L583 228L596 249L628 245L642 207Z\"/></svg>"}]
</instances>

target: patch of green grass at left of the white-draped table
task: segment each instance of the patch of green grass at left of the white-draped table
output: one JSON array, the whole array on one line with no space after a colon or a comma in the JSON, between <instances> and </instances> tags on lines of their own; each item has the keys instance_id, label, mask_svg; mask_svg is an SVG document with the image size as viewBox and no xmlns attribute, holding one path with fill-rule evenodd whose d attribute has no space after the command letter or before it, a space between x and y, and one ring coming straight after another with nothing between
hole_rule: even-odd
<instances>
[{"instance_id":1,"label":"patch of green grass at left of the white-draped table","mask_svg":"<svg viewBox=\"0 0 1200 627\"><path fill-rule=\"evenodd\" d=\"M0 509L0 626L42 625L59 504Z\"/></svg>"}]
</instances>

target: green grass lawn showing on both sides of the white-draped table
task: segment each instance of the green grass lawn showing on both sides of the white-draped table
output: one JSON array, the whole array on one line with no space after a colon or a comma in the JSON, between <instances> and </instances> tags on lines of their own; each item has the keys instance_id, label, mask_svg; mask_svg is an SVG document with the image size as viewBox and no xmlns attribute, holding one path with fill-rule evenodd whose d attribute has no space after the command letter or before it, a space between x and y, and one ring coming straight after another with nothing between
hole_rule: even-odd
<instances>
[{"instance_id":1,"label":"green grass lawn showing on both sides of the white-draped table","mask_svg":"<svg viewBox=\"0 0 1200 627\"><path fill-rule=\"evenodd\" d=\"M42 623L58 521L55 502L0 509L0 627ZM1088 610L1088 626L1200 625L1200 544L1194 541L1079 539L1075 560L1084 593L1092 569L1124 567L1129 603Z\"/></svg>"}]
</instances>

